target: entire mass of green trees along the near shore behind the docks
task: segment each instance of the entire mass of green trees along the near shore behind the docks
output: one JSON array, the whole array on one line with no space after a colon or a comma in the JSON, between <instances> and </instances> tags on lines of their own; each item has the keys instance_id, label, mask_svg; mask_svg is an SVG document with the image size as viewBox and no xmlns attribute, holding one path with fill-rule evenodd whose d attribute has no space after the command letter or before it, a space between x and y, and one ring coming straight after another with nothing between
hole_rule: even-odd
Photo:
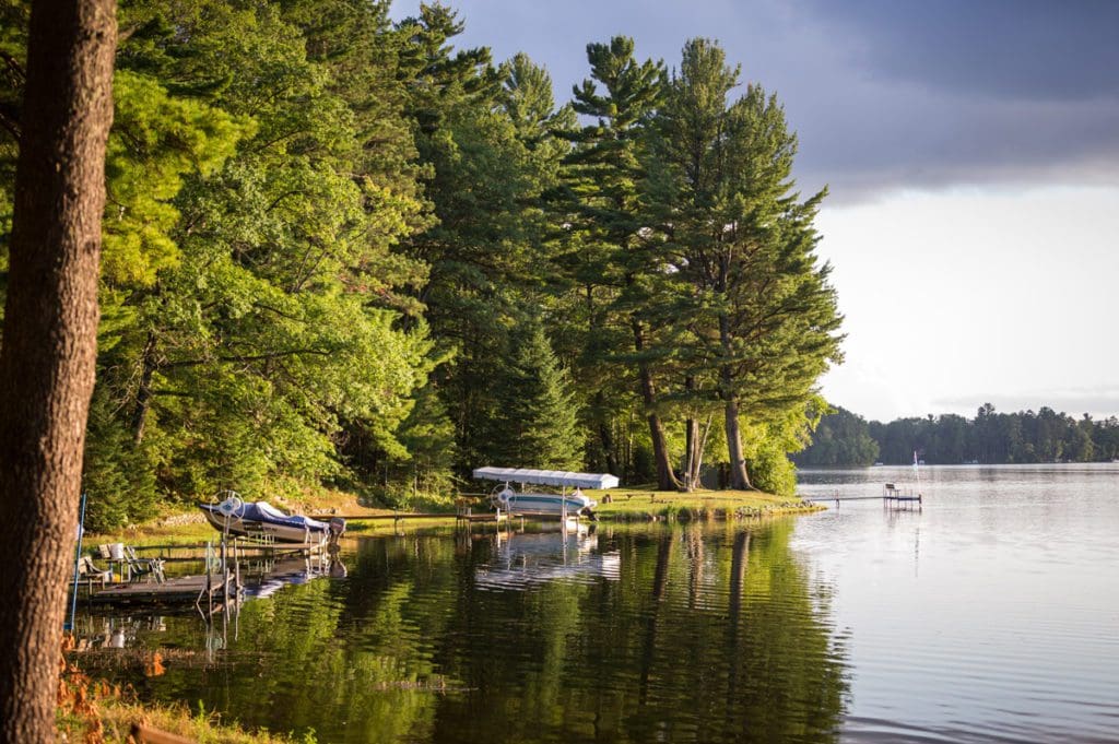
<instances>
[{"instance_id":1,"label":"entire mass of green trees along the near shore behind the docks","mask_svg":"<svg viewBox=\"0 0 1119 744\"><path fill-rule=\"evenodd\" d=\"M223 488L445 501L483 460L671 482L732 401L783 489L773 422L838 319L775 98L727 104L713 43L669 75L619 36L557 105L448 7L388 8L120 3L92 522ZM0 295L27 19L0 3Z\"/></svg>"}]
</instances>

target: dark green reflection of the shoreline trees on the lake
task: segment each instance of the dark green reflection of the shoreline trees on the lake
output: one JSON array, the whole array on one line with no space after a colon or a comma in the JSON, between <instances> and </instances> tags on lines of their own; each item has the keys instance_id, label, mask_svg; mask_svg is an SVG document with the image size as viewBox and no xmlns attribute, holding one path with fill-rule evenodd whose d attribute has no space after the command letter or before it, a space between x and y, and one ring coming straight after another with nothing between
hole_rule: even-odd
<instances>
[{"instance_id":1,"label":"dark green reflection of the shoreline trees on the lake","mask_svg":"<svg viewBox=\"0 0 1119 744\"><path fill-rule=\"evenodd\" d=\"M845 644L790 534L360 538L346 577L246 602L215 663L141 687L329 742L835 741ZM205 648L167 628L138 639Z\"/></svg>"}]
</instances>

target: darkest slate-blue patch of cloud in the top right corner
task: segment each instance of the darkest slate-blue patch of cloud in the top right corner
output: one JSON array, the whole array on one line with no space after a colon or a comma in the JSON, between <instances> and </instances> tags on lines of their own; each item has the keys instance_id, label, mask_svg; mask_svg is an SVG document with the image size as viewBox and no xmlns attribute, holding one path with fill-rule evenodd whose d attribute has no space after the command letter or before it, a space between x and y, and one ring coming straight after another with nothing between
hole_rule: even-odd
<instances>
[{"instance_id":1,"label":"darkest slate-blue patch of cloud in the top right corner","mask_svg":"<svg viewBox=\"0 0 1119 744\"><path fill-rule=\"evenodd\" d=\"M1115 98L1119 3L1113 0L808 0L858 37L871 75L985 97Z\"/></svg>"}]
</instances>

